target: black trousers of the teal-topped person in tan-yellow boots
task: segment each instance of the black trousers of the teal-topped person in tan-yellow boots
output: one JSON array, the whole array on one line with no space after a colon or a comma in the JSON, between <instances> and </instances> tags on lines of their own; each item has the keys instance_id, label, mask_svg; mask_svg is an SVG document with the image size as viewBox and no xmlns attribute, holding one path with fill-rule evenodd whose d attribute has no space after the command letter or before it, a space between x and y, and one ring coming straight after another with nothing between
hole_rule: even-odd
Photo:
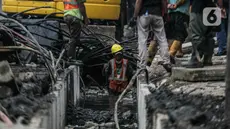
<instances>
[{"instance_id":1,"label":"black trousers of the teal-topped person in tan-yellow boots","mask_svg":"<svg viewBox=\"0 0 230 129\"><path fill-rule=\"evenodd\" d=\"M189 23L188 15L181 12L169 13L169 20L166 24L167 38L184 42L188 35L185 23Z\"/></svg>"}]
</instances>

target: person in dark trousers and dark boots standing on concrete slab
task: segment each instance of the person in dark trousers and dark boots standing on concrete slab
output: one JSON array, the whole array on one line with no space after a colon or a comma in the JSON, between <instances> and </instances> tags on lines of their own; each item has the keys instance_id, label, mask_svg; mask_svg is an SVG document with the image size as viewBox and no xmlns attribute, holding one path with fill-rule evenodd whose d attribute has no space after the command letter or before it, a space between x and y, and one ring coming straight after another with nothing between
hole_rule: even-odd
<instances>
[{"instance_id":1,"label":"person in dark trousers and dark boots standing on concrete slab","mask_svg":"<svg viewBox=\"0 0 230 129\"><path fill-rule=\"evenodd\" d=\"M203 10L206 7L216 7L212 0L193 0L189 27L191 29L193 51L187 68L200 68L212 65L214 50L213 28L203 24ZM203 61L201 58L203 58Z\"/></svg>"}]
</instances>

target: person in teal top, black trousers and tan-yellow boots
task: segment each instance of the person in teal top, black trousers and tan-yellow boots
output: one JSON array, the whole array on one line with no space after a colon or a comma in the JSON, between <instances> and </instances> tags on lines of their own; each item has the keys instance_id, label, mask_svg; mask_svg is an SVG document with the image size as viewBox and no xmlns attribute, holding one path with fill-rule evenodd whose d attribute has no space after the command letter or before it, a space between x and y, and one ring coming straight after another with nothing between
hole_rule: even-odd
<instances>
[{"instance_id":1,"label":"person in teal top, black trousers and tan-yellow boots","mask_svg":"<svg viewBox=\"0 0 230 129\"><path fill-rule=\"evenodd\" d=\"M187 37L185 23L189 23L189 0L168 0L168 28L173 43L169 48L172 57L183 57L182 43Z\"/></svg>"}]
</instances>

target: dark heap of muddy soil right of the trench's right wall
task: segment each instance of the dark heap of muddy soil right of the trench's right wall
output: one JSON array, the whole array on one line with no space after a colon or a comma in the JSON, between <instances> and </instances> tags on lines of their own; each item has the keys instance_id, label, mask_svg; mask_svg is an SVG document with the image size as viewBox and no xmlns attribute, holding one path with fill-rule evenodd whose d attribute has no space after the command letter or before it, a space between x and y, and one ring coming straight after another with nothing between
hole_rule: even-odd
<instances>
[{"instance_id":1,"label":"dark heap of muddy soil right of the trench's right wall","mask_svg":"<svg viewBox=\"0 0 230 129\"><path fill-rule=\"evenodd\" d=\"M175 94L168 88L152 91L147 98L148 128L161 129L222 129L224 97ZM161 115L160 115L161 114ZM164 123L157 120L164 117ZM155 119L154 119L155 118ZM152 122L153 121L153 122Z\"/></svg>"}]
</instances>

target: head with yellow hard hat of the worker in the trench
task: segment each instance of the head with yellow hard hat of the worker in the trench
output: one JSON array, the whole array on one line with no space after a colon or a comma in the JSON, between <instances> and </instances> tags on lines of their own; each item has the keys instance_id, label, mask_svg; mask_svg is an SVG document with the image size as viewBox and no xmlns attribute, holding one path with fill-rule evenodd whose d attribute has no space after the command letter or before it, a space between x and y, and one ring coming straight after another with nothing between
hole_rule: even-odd
<instances>
[{"instance_id":1,"label":"head with yellow hard hat of the worker in the trench","mask_svg":"<svg viewBox=\"0 0 230 129\"><path fill-rule=\"evenodd\" d=\"M114 44L111 48L111 52L117 61L120 61L122 59L123 56L122 50L123 48L119 44Z\"/></svg>"}]
</instances>

